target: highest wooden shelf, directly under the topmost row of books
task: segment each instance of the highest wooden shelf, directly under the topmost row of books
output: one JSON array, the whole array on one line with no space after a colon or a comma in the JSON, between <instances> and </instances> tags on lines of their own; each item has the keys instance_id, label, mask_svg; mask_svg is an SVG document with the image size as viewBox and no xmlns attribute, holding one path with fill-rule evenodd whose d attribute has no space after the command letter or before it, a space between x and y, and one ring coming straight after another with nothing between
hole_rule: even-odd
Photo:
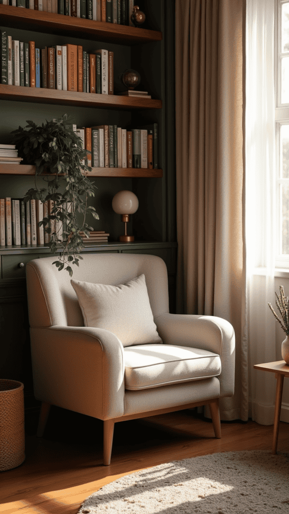
<instances>
[{"instance_id":1,"label":"highest wooden shelf, directly under the topmost row of books","mask_svg":"<svg viewBox=\"0 0 289 514\"><path fill-rule=\"evenodd\" d=\"M34 11L0 5L1 25L35 32L68 35L70 37L94 41L107 41L123 45L137 45L161 41L162 34L157 30L148 30L116 23L95 22L63 14Z\"/></svg>"}]
</instances>

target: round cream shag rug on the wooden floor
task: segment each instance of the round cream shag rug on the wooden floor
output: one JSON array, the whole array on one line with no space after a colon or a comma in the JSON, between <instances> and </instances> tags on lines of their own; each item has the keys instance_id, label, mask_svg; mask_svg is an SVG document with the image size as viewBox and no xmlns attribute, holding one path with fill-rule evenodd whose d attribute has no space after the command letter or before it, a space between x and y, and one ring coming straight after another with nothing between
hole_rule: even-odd
<instances>
[{"instance_id":1,"label":"round cream shag rug on the wooden floor","mask_svg":"<svg viewBox=\"0 0 289 514\"><path fill-rule=\"evenodd\" d=\"M103 486L82 514L289 513L289 454L214 453L138 471Z\"/></svg>"}]
</instances>

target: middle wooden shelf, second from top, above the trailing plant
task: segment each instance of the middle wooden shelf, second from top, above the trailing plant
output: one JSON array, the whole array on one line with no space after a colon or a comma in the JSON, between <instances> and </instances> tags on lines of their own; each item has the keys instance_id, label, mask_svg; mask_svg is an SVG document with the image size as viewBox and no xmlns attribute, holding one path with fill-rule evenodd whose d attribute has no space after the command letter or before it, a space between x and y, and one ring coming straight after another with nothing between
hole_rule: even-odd
<instances>
[{"instance_id":1,"label":"middle wooden shelf, second from top, above the trailing plant","mask_svg":"<svg viewBox=\"0 0 289 514\"><path fill-rule=\"evenodd\" d=\"M0 7L2 7L0 5ZM6 7L6 6L4 6ZM20 7L15 7L20 9ZM39 11L36 11L39 12ZM161 109L161 100L131 98L117 95L98 95L78 91L62 91L43 87L9 86L0 84L0 99L20 102L52 103L55 105L77 105L106 109Z\"/></svg>"}]
</instances>

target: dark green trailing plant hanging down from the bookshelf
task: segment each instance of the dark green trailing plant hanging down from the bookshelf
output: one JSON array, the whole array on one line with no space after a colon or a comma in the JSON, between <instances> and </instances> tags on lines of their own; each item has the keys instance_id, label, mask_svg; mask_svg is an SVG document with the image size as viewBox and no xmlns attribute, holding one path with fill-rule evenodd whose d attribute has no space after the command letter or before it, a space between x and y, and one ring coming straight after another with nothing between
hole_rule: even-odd
<instances>
[{"instance_id":1,"label":"dark green trailing plant hanging down from the bookshelf","mask_svg":"<svg viewBox=\"0 0 289 514\"><path fill-rule=\"evenodd\" d=\"M60 252L58 261L53 264L59 271L68 271L71 277L71 264L79 266L82 259L80 231L89 237L89 230L93 230L86 223L87 216L91 214L99 219L95 208L87 205L88 197L95 196L96 190L87 177L92 171L86 164L87 151L82 148L81 138L73 131L66 114L39 125L29 120L26 123L25 127L19 126L12 132L13 143L24 163L35 165L35 188L27 191L24 200L38 199L43 203L52 200L53 208L39 226L43 225L44 231L50 234L50 251ZM37 186L39 175L46 181L45 188ZM62 238L57 230L51 233L51 220L56 227L62 227Z\"/></svg>"}]
</instances>

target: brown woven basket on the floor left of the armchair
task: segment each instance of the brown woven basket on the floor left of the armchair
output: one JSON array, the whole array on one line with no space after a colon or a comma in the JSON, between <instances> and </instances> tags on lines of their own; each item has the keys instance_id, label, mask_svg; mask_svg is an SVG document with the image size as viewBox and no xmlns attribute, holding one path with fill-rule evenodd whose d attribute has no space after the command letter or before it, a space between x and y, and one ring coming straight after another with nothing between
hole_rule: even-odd
<instances>
[{"instance_id":1,"label":"brown woven basket on the floor left of the armchair","mask_svg":"<svg viewBox=\"0 0 289 514\"><path fill-rule=\"evenodd\" d=\"M0 471L25 460L23 383L0 379Z\"/></svg>"}]
</instances>

